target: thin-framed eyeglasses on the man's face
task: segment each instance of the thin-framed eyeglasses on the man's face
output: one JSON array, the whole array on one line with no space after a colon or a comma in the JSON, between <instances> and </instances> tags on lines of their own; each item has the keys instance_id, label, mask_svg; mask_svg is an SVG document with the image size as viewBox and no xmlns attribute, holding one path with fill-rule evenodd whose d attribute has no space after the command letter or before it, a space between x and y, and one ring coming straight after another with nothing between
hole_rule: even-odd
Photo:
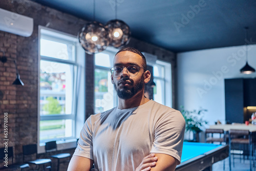
<instances>
[{"instance_id":1,"label":"thin-framed eyeglasses on the man's face","mask_svg":"<svg viewBox=\"0 0 256 171\"><path fill-rule=\"evenodd\" d=\"M131 77L134 77L136 76L140 69L143 68L143 67L139 67L139 66L129 66L129 67L113 67L112 69L110 69L111 71L111 75L113 75L113 77L117 78L117 77L120 77L123 69L126 68L126 72L131 76ZM145 68L143 68L145 70Z\"/></svg>"}]
</instances>

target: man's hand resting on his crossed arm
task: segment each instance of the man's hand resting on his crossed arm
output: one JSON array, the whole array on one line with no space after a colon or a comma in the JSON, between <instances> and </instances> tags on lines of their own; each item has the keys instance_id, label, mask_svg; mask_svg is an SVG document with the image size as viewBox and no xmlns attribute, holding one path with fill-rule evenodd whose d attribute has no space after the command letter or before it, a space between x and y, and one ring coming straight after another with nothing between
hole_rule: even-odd
<instances>
[{"instance_id":1,"label":"man's hand resting on his crossed arm","mask_svg":"<svg viewBox=\"0 0 256 171\"><path fill-rule=\"evenodd\" d=\"M147 171L151 170L151 167L156 166L158 158L155 157L155 154L150 154L147 155L146 157L143 158L142 162L140 165L136 168L136 171Z\"/></svg>"}]
</instances>

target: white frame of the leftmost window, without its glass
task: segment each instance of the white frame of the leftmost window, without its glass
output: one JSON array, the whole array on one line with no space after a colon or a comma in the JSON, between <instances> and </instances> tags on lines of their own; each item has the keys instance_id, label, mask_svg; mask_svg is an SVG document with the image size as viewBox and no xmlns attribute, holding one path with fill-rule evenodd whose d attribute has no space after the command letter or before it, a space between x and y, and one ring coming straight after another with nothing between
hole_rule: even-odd
<instances>
[{"instance_id":1,"label":"white frame of the leftmost window, without its glass","mask_svg":"<svg viewBox=\"0 0 256 171\"><path fill-rule=\"evenodd\" d=\"M58 58L53 58L53 57L47 57L47 56L41 56L40 55L40 38L41 38L41 29L48 30L51 32L56 32L57 34L62 34L70 37L70 41L76 40L76 50L75 50L75 60L64 60L64 59L58 59ZM54 35L51 35L54 37ZM60 37L55 37L58 40L61 40ZM64 39L65 42L67 42L67 39ZM83 56L83 58L78 58L77 56ZM51 62L58 62L58 63L64 63L67 65L73 65L77 69L74 71L76 73L73 73L73 78L74 78L74 83L73 83L73 104L72 104L72 114L66 115L66 114L59 114L59 115L53 115L53 116L40 116L40 61L45 60L45 61L51 61ZM79 63L79 64L78 64ZM73 137L71 138L64 138L62 140L57 140L57 146L58 149L68 149L68 148L73 148L76 147L76 140L78 138L78 133L77 131L81 130L82 125L84 123L84 101L85 101L85 53L84 50L80 47L79 42L77 40L77 37L71 34L67 34L64 32L60 32L54 29L49 29L47 27L43 26L38 26L38 121L37 121L37 150L38 153L45 153L45 143L40 143L40 121L41 120L59 120L59 119L72 119L73 122L73 130L72 130L72 135ZM83 101L83 102L79 102ZM77 115L79 113L79 116ZM80 116L81 115L81 116ZM50 140L49 140L50 141Z\"/></svg>"}]
</instances>

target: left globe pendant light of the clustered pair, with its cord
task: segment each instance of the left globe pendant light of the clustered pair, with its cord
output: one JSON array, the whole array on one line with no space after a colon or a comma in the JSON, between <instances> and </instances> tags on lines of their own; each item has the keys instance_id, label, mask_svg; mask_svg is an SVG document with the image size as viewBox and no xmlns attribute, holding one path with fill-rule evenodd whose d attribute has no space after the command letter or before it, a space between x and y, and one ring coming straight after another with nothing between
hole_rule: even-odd
<instances>
[{"instance_id":1,"label":"left globe pendant light of the clustered pair, with its cord","mask_svg":"<svg viewBox=\"0 0 256 171\"><path fill-rule=\"evenodd\" d=\"M93 4L93 22L83 26L78 35L82 48L88 53L98 53L109 46L109 31L99 22L95 21L95 0Z\"/></svg>"}]
</instances>

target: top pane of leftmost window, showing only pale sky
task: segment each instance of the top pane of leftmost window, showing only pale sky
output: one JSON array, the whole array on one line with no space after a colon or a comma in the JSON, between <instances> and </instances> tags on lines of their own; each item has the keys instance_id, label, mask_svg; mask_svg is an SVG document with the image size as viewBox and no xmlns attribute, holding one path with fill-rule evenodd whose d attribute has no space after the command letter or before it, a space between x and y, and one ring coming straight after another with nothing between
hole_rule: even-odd
<instances>
[{"instance_id":1,"label":"top pane of leftmost window, showing only pale sky","mask_svg":"<svg viewBox=\"0 0 256 171\"><path fill-rule=\"evenodd\" d=\"M40 39L40 55L64 60L74 60L74 45L53 40Z\"/></svg>"}]
</instances>

